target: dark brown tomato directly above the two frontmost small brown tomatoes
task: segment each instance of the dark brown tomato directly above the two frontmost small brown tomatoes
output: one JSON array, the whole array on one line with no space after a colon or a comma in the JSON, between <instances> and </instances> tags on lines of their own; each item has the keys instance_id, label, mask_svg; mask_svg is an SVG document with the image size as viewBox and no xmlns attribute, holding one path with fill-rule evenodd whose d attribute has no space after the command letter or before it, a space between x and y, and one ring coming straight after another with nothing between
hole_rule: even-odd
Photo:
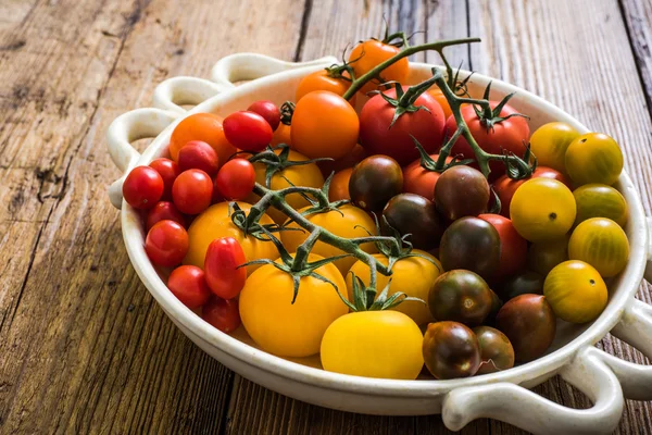
<instances>
[{"instance_id":1,"label":"dark brown tomato directly above the two frontmost small brown tomatoes","mask_svg":"<svg viewBox=\"0 0 652 435\"><path fill-rule=\"evenodd\" d=\"M464 270L440 275L428 294L428 308L436 320L450 320L468 326L482 324L492 304L492 291L485 279Z\"/></svg>"}]
</instances>

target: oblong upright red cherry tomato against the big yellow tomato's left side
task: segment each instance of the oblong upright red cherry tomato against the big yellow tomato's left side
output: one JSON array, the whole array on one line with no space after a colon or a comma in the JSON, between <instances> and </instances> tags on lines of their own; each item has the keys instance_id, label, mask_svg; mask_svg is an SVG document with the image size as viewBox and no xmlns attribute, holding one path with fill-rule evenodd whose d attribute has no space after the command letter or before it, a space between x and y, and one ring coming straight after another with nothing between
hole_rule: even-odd
<instances>
[{"instance_id":1,"label":"oblong upright red cherry tomato against the big yellow tomato's left side","mask_svg":"<svg viewBox=\"0 0 652 435\"><path fill-rule=\"evenodd\" d=\"M247 269L244 251L233 237L217 238L211 241L204 260L206 283L211 290L224 299L233 299L244 287Z\"/></svg>"}]
</instances>

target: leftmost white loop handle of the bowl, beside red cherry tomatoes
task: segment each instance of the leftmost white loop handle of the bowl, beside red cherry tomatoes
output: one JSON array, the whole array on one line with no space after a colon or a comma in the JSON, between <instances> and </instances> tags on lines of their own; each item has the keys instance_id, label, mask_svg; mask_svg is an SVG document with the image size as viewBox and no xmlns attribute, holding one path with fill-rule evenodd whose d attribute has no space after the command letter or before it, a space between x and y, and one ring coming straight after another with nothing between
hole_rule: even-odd
<instances>
[{"instance_id":1,"label":"leftmost white loop handle of the bowl, beside red cherry tomatoes","mask_svg":"<svg viewBox=\"0 0 652 435\"><path fill-rule=\"evenodd\" d=\"M156 137L178 116L178 113L161 109L136 109L117 116L106 130L106 147L113 163L124 175L109 187L111 203L122 207L122 185L128 172L136 165L140 153L131 142L148 137Z\"/></svg>"}]
</instances>

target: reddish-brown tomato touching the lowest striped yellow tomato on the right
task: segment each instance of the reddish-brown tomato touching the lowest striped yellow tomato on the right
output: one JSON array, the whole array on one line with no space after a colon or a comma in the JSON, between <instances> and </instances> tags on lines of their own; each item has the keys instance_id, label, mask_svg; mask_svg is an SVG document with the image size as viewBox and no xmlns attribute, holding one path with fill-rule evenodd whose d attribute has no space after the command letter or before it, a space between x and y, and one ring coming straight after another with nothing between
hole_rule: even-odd
<instances>
[{"instance_id":1,"label":"reddish-brown tomato touching the lowest striped yellow tomato on the right","mask_svg":"<svg viewBox=\"0 0 652 435\"><path fill-rule=\"evenodd\" d=\"M521 295L498 312L496 327L507 336L516 361L528 362L546 353L556 331L554 312L541 295Z\"/></svg>"}]
</instances>

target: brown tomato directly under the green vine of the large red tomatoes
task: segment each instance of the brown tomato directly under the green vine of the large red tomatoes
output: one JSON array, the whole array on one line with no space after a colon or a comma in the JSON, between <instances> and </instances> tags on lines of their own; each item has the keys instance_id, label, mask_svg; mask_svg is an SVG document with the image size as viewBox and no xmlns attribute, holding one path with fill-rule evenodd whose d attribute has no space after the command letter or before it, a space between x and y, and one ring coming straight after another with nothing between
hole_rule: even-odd
<instances>
[{"instance_id":1,"label":"brown tomato directly under the green vine of the large red tomatoes","mask_svg":"<svg viewBox=\"0 0 652 435\"><path fill-rule=\"evenodd\" d=\"M489 183L476 169L453 166L441 174L434 195L435 204L449 220L477 216L487 211Z\"/></svg>"}]
</instances>

